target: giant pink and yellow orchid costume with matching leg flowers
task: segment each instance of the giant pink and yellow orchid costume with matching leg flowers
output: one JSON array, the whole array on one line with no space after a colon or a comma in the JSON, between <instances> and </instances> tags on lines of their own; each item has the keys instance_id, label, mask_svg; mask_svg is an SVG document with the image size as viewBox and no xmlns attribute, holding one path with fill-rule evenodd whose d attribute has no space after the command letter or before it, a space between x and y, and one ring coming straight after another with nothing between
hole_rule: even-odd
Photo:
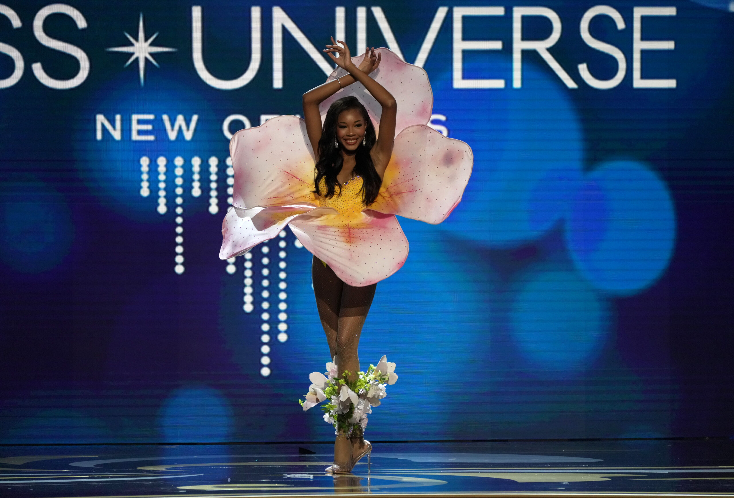
<instances>
[{"instance_id":1,"label":"giant pink and yellow orchid costume with matching leg flowers","mask_svg":"<svg viewBox=\"0 0 734 498\"><path fill-rule=\"evenodd\" d=\"M289 225L304 247L345 284L368 286L395 273L407 259L408 242L396 214L436 224L457 206L471 173L471 149L426 126L433 107L426 71L403 62L387 48L377 51L382 64L370 76L397 102L393 154L377 200L363 205L359 177L344 184L341 195L316 196L314 154L305 121L296 116L272 118L238 131L230 142L233 208L222 225L220 258L247 253ZM361 58L352 60L357 63ZM328 80L345 74L338 68ZM348 95L364 104L379 129L381 107L359 82L321 103L322 122L333 101ZM327 365L328 377L311 374L302 406L306 410L329 399L324 419L339 433L351 434L366 426L370 407L385 396L385 384L395 382L395 364L383 357L377 367L360 372L354 385L340 384L334 369L333 364Z\"/></svg>"}]
</instances>

